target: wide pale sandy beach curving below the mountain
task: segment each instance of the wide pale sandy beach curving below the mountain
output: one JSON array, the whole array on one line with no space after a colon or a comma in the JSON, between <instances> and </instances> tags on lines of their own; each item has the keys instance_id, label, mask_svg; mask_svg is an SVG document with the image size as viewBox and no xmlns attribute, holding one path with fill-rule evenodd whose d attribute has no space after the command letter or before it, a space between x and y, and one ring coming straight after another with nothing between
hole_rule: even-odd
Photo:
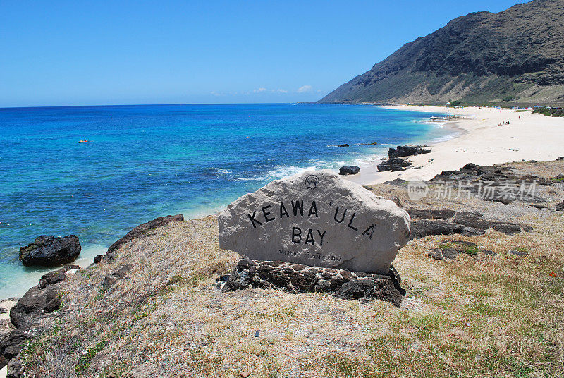
<instances>
[{"instance_id":1,"label":"wide pale sandy beach curving below the mountain","mask_svg":"<svg viewBox=\"0 0 564 378\"><path fill-rule=\"evenodd\" d=\"M448 122L443 127L456 128L459 133L445 142L428 143L430 154L410 157L414 167L407 171L379 173L373 164L361 167L360 173L346 176L362 185L382 183L402 178L428 180L441 171L454 171L467 163L501 164L510 161L549 161L564 156L564 118L532 114L531 111L443 106L386 106L388 109L452 114L465 119ZM509 121L509 125L498 126ZM432 161L429 161L432 159Z\"/></svg>"}]
</instances>

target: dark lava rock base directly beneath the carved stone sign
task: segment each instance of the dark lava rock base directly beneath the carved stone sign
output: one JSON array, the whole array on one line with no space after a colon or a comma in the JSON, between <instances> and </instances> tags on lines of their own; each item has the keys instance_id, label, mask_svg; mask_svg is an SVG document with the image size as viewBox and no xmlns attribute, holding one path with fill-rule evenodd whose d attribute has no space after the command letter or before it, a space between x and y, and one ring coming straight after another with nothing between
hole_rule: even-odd
<instances>
[{"instance_id":1,"label":"dark lava rock base directly beneath the carved stone sign","mask_svg":"<svg viewBox=\"0 0 564 378\"><path fill-rule=\"evenodd\" d=\"M247 257L237 263L231 274L222 276L218 286L223 293L250 287L289 293L329 292L347 300L386 300L396 307L405 295L400 276L393 267L387 274L373 274Z\"/></svg>"}]
</instances>

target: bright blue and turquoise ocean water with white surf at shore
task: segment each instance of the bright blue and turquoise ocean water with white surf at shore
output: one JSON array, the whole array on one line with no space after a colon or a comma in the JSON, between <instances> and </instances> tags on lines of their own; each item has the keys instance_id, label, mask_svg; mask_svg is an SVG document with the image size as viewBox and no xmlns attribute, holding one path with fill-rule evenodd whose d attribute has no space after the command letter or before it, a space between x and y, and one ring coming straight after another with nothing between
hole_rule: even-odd
<instances>
[{"instance_id":1,"label":"bright blue and turquoise ocean water with white surf at shore","mask_svg":"<svg viewBox=\"0 0 564 378\"><path fill-rule=\"evenodd\" d=\"M0 109L0 298L46 272L18 260L40 234L78 235L89 264L155 217L210 214L274 178L444 138L425 122L435 115L315 104ZM358 145L369 142L379 145Z\"/></svg>"}]
</instances>

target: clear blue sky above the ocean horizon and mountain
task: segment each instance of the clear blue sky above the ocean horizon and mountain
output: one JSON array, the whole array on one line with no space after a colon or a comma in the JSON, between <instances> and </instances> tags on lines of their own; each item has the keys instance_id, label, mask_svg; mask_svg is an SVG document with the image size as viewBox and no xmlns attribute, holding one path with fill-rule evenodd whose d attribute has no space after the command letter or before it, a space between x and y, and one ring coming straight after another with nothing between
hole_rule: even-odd
<instances>
[{"instance_id":1,"label":"clear blue sky above the ocean horizon and mountain","mask_svg":"<svg viewBox=\"0 0 564 378\"><path fill-rule=\"evenodd\" d=\"M0 0L0 107L314 101L518 2Z\"/></svg>"}]
</instances>

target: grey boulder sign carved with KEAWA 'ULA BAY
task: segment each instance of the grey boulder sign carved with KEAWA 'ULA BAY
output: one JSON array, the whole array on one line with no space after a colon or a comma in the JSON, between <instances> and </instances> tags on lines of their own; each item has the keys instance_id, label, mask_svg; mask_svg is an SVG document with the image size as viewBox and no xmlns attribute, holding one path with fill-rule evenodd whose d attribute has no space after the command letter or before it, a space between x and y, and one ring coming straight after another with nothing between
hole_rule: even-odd
<instances>
[{"instance_id":1,"label":"grey boulder sign carved with KEAWA 'ULA BAY","mask_svg":"<svg viewBox=\"0 0 564 378\"><path fill-rule=\"evenodd\" d=\"M388 272L410 238L405 210L326 170L272 181L218 221L224 250L354 272Z\"/></svg>"}]
</instances>

